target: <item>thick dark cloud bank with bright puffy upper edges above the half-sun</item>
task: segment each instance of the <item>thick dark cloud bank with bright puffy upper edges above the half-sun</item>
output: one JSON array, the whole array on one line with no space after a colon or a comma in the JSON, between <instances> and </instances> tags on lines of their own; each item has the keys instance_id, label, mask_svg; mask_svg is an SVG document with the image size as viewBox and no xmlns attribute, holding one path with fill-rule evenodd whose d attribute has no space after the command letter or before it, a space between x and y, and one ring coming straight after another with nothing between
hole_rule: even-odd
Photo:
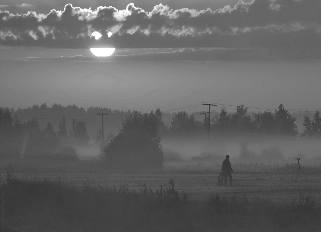
<instances>
[{"instance_id":1,"label":"thick dark cloud bank with bright puffy upper edges above the half-sun","mask_svg":"<svg viewBox=\"0 0 321 232\"><path fill-rule=\"evenodd\" d=\"M278 55L315 58L321 49L321 1L239 1L234 7L146 12L134 4L93 10L66 4L48 14L0 13L0 42L6 46L86 48L103 33L117 48L262 47ZM108 38L107 31L113 36Z\"/></svg>"}]
</instances>

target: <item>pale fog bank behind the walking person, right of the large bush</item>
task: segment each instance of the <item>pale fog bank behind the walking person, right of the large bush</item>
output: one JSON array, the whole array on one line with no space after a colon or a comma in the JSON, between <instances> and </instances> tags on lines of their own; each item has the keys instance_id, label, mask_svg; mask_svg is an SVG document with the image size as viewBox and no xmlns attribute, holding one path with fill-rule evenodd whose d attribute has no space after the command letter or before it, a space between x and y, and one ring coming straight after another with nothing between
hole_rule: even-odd
<instances>
[{"instance_id":1,"label":"pale fog bank behind the walking person, right of the large bush","mask_svg":"<svg viewBox=\"0 0 321 232\"><path fill-rule=\"evenodd\" d=\"M248 151L253 152L251 158L244 158L240 155L242 143L246 143ZM235 139L211 138L209 145L207 135L204 135L196 138L164 138L162 144L165 150L171 149L177 152L185 161L208 153L213 155L215 162L222 162L225 155L230 155L231 163L286 164L296 163L294 158L301 158L302 164L321 165L321 144L319 140L315 139L303 141L286 136L262 136L255 139L244 137ZM264 158L262 150L269 148L277 148L280 154L275 154L275 157L271 154L270 158Z\"/></svg>"}]
</instances>

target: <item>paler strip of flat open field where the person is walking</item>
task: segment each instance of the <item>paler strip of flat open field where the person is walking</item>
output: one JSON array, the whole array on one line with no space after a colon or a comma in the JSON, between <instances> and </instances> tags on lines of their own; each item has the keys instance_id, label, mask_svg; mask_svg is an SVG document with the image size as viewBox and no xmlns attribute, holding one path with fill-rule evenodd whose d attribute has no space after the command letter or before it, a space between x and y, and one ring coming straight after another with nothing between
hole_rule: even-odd
<instances>
[{"instance_id":1,"label":"paler strip of flat open field where the person is walking","mask_svg":"<svg viewBox=\"0 0 321 232\"><path fill-rule=\"evenodd\" d=\"M216 186L216 174L106 174L106 173L15 173L19 179L42 180L57 179L75 186L128 187L140 191L143 186L153 191L161 185L168 186L174 179L175 189L186 193L190 199L202 200L211 194L263 197L274 202L290 202L300 195L314 195L321 203L321 175L305 175L299 172L297 181L294 175L234 174L233 187ZM228 182L229 184L229 182Z\"/></svg>"}]
</instances>

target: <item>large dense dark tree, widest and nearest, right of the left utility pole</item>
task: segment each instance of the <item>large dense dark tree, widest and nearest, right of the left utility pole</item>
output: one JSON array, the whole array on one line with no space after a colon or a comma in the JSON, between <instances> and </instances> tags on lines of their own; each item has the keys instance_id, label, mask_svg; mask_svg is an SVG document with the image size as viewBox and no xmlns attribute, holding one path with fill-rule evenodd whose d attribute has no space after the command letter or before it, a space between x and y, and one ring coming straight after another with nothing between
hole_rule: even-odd
<instances>
[{"instance_id":1,"label":"large dense dark tree, widest and nearest, right of the left utility pole","mask_svg":"<svg viewBox=\"0 0 321 232\"><path fill-rule=\"evenodd\" d=\"M108 165L121 168L159 168L163 164L159 115L133 112L120 133L104 148Z\"/></svg>"}]
</instances>

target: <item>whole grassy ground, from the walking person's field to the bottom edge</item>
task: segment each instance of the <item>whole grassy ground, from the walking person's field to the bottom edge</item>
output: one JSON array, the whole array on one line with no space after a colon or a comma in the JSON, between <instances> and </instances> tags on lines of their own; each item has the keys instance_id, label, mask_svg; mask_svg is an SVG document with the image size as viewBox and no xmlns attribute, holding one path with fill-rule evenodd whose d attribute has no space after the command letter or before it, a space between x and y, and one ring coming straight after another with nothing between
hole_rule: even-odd
<instances>
[{"instance_id":1,"label":"whole grassy ground, from the walking person's field to the bottom edge","mask_svg":"<svg viewBox=\"0 0 321 232\"><path fill-rule=\"evenodd\" d=\"M233 187L217 187L206 174L11 174L4 174L0 189L2 232L321 227L317 175L295 182L288 175L238 174Z\"/></svg>"}]
</instances>

